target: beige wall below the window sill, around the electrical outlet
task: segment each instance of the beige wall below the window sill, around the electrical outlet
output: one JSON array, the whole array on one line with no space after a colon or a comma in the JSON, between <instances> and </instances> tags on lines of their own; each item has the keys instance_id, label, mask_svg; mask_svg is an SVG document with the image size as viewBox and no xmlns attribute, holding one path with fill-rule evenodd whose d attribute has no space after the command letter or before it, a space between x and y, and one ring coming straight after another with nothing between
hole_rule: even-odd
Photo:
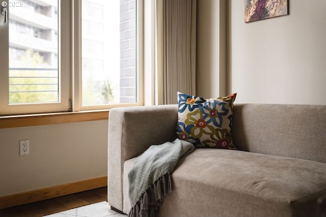
<instances>
[{"instance_id":1,"label":"beige wall below the window sill, around the electrical outlet","mask_svg":"<svg viewBox=\"0 0 326 217\"><path fill-rule=\"evenodd\" d=\"M0 197L107 175L107 120L0 129ZM19 156L19 140L30 154Z\"/></svg>"}]
</instances>

